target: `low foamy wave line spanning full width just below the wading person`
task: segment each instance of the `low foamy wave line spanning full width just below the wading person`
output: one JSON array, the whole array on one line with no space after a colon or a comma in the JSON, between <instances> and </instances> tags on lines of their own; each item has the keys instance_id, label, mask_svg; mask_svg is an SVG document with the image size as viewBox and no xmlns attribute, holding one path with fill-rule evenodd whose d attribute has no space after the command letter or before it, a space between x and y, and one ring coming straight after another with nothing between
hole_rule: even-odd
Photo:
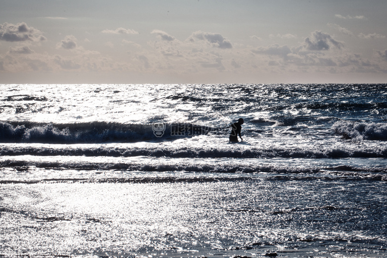
<instances>
[{"instance_id":1,"label":"low foamy wave line spanning full width just below the wading person","mask_svg":"<svg viewBox=\"0 0 387 258\"><path fill-rule=\"evenodd\" d=\"M230 144L232 145L232 144ZM170 158L387 158L385 148L361 148L361 147L298 147L287 148L285 146L267 146L247 148L239 146L202 146L202 147L160 147L154 146L7 146L3 145L0 155L19 156L88 156L88 157L170 157Z\"/></svg>"}]
</instances>

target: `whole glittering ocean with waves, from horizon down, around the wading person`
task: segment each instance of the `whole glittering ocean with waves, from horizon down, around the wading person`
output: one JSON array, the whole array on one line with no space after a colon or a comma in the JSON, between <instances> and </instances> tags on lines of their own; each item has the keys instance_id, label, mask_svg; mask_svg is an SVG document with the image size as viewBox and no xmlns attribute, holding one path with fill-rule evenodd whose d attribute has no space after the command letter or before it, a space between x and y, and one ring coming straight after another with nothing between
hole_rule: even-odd
<instances>
[{"instance_id":1,"label":"whole glittering ocean with waves, from horizon down, around the wading person","mask_svg":"<svg viewBox=\"0 0 387 258\"><path fill-rule=\"evenodd\" d=\"M2 84L0 257L387 257L386 142L387 84Z\"/></svg>"}]
</instances>

